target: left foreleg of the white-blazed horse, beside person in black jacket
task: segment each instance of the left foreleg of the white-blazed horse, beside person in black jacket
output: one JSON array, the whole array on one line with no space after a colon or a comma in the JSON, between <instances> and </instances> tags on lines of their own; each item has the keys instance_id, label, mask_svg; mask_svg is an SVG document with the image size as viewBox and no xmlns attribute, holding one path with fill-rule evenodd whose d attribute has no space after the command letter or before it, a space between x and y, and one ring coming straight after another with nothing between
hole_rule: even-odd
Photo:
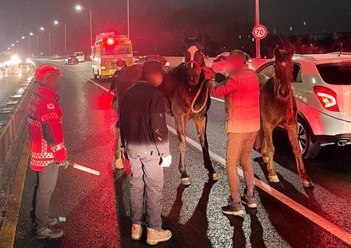
<instances>
[{"instance_id":1,"label":"left foreleg of the white-blazed horse, beside person in black jacket","mask_svg":"<svg viewBox=\"0 0 351 248\"><path fill-rule=\"evenodd\" d=\"M186 130L185 125L187 124L187 119L184 115L175 116L176 120L176 130L179 141L179 172L180 172L180 183L183 185L190 185L190 177L187 175L187 171L185 168L185 151L187 148L186 144Z\"/></svg>"}]
</instances>

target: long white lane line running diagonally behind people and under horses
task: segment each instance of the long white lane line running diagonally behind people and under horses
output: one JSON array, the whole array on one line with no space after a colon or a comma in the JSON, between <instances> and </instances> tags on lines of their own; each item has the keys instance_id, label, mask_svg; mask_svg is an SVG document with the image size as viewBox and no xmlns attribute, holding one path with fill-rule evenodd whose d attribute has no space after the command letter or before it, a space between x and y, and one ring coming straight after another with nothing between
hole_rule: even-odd
<instances>
[{"instance_id":1,"label":"long white lane line running diagonally behind people and under horses","mask_svg":"<svg viewBox=\"0 0 351 248\"><path fill-rule=\"evenodd\" d=\"M66 67L67 68L67 67ZM70 68L67 68L71 71L74 71ZM77 71L74 71L75 73L81 75L82 77L86 78L82 74L80 74ZM108 92L107 88L103 87L102 85L99 85L98 83L95 83L94 81L91 81L90 79L86 78L88 81L94 83L95 85L98 85L102 90L105 90ZM171 126L167 125L167 128L170 132L172 132L174 135L177 135L177 131L172 128ZM195 142L193 139L190 139L190 137L187 138L187 143L191 144L194 146L196 149L201 151L201 145L197 142ZM218 163L222 164L223 167L225 166L225 158L222 158L221 156L218 156L216 153L213 153L213 151L209 151L211 158L214 160L218 161ZM238 167L238 174L243 177L243 170ZM260 181L260 179L257 179L256 177L254 178L255 185L268 193L269 195L272 195L272 197L276 198L280 202L284 203L286 206L290 207L294 211L298 212L299 214L305 216L307 219L310 221L316 223L318 226L324 228L326 231L329 233L335 235L338 237L340 240L343 240L347 244L351 245L351 234L347 233L345 230L339 228L338 226L334 225L333 223L327 221L324 219L322 216L319 216L318 214L312 212L310 209L307 209L306 207L303 207L303 205L300 205L300 203L292 200L291 198L287 197L283 193L280 193L276 189L272 188L268 184L265 184L263 181Z\"/></svg>"}]
</instances>

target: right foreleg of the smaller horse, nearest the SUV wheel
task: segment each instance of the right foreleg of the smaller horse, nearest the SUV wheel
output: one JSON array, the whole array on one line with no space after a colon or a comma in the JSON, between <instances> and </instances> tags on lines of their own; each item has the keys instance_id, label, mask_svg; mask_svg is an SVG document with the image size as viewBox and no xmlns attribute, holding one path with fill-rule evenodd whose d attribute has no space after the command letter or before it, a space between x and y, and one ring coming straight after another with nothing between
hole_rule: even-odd
<instances>
[{"instance_id":1,"label":"right foreleg of the smaller horse, nearest the SUV wheel","mask_svg":"<svg viewBox=\"0 0 351 248\"><path fill-rule=\"evenodd\" d=\"M298 167L298 174L303 181L305 188L313 187L312 180L307 176L305 171L305 165L303 165L303 156L301 153L300 146L298 145L298 123L294 121L291 125L285 127L288 131L290 144L293 148L293 155L296 158L296 165Z\"/></svg>"}]
</instances>

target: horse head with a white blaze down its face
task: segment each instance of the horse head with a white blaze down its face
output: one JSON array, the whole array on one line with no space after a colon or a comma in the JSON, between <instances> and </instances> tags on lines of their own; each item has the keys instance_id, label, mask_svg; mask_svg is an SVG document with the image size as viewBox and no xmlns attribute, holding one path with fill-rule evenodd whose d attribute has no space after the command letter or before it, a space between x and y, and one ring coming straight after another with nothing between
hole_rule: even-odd
<instances>
[{"instance_id":1,"label":"horse head with a white blaze down its face","mask_svg":"<svg viewBox=\"0 0 351 248\"><path fill-rule=\"evenodd\" d=\"M185 67L187 69L187 81L190 85L199 83L202 68L205 66L203 43L204 36L198 34L197 37L189 37L183 34L185 44Z\"/></svg>"}]
</instances>

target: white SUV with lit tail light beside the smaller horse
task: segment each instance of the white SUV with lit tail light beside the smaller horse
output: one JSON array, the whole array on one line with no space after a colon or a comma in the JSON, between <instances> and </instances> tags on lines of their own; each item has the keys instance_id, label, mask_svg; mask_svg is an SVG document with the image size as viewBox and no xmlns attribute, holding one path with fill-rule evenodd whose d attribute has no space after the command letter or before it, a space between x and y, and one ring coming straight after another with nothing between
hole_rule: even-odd
<instances>
[{"instance_id":1,"label":"white SUV with lit tail light beside the smaller horse","mask_svg":"<svg viewBox=\"0 0 351 248\"><path fill-rule=\"evenodd\" d=\"M273 64L256 72L272 76ZM295 55L293 67L303 157L314 158L321 146L351 144L351 53Z\"/></svg>"}]
</instances>

